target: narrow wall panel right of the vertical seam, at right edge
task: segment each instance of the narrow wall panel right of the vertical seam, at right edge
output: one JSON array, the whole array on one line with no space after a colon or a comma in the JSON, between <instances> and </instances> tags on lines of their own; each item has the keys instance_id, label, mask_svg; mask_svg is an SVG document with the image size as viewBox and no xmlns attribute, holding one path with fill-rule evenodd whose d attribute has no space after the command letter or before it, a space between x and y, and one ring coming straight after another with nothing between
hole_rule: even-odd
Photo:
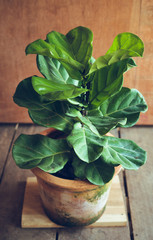
<instances>
[{"instance_id":1,"label":"narrow wall panel right of the vertical seam, at right edge","mask_svg":"<svg viewBox=\"0 0 153 240\"><path fill-rule=\"evenodd\" d=\"M153 1L142 0L140 14L140 36L145 44L143 59L139 60L136 88L139 89L149 106L147 114L142 115L140 124L153 124Z\"/></svg>"}]
</instances>

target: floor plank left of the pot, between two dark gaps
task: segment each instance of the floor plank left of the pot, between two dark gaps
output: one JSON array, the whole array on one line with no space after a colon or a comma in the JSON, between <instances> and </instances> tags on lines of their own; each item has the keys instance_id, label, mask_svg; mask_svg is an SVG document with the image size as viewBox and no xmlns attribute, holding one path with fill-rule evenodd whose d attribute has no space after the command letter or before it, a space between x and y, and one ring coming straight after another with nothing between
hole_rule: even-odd
<instances>
[{"instance_id":1,"label":"floor plank left of the pot, between two dark gaps","mask_svg":"<svg viewBox=\"0 0 153 240\"><path fill-rule=\"evenodd\" d=\"M33 134L42 130L34 126L19 127L21 132ZM8 139L8 138L7 138ZM2 240L55 240L56 231L53 229L21 229L21 211L25 190L25 181L32 176L29 170L19 169L11 156L7 161L5 172L0 185L0 239Z\"/></svg>"}]
</instances>

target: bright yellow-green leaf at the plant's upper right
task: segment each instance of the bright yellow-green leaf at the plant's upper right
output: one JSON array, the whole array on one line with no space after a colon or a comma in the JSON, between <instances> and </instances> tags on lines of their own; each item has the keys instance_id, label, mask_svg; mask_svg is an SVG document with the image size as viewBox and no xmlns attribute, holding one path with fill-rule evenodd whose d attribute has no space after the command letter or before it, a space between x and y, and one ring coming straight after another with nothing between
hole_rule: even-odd
<instances>
[{"instance_id":1,"label":"bright yellow-green leaf at the plant's upper right","mask_svg":"<svg viewBox=\"0 0 153 240\"><path fill-rule=\"evenodd\" d=\"M107 53L94 62L90 73L123 59L140 57L143 51L144 44L138 36L132 33L121 33L116 36Z\"/></svg>"}]
</instances>

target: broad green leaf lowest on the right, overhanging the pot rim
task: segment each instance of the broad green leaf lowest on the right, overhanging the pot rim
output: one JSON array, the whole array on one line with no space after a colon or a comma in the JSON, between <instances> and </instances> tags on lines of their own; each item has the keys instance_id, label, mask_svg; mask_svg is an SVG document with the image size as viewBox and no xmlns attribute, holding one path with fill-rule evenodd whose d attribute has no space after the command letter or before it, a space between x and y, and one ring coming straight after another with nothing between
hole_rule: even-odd
<instances>
[{"instance_id":1,"label":"broad green leaf lowest on the right, overhanging the pot rim","mask_svg":"<svg viewBox=\"0 0 153 240\"><path fill-rule=\"evenodd\" d=\"M101 156L107 164L122 165L125 169L136 170L146 162L146 152L131 140L102 137Z\"/></svg>"}]
</instances>

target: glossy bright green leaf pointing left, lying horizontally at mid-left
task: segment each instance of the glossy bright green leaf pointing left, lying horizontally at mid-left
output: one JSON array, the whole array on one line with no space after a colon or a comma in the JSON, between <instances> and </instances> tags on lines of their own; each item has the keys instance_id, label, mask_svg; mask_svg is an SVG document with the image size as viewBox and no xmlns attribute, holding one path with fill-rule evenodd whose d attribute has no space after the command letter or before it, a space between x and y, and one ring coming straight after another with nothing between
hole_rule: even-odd
<instances>
[{"instance_id":1,"label":"glossy bright green leaf pointing left, lying horizontally at mid-left","mask_svg":"<svg viewBox=\"0 0 153 240\"><path fill-rule=\"evenodd\" d=\"M51 101L75 98L88 91L87 89L79 88L72 84L59 83L52 79L48 80L36 76L32 77L32 85L38 94L45 96Z\"/></svg>"}]
</instances>

